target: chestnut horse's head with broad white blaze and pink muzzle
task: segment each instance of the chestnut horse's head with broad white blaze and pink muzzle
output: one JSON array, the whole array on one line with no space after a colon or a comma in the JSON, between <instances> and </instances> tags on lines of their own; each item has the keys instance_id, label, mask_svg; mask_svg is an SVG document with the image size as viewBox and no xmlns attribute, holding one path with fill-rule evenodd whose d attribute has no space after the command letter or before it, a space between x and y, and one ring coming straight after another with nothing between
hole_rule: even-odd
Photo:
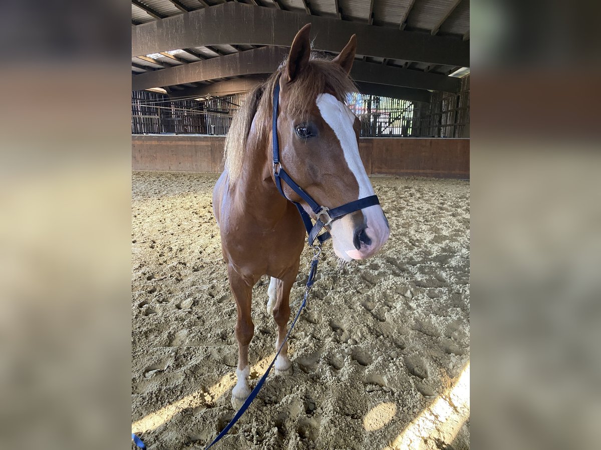
<instances>
[{"instance_id":1,"label":"chestnut horse's head with broad white blaze and pink muzzle","mask_svg":"<svg viewBox=\"0 0 601 450\"><path fill-rule=\"evenodd\" d=\"M332 61L311 59L310 24L298 32L279 76L278 139L285 170L320 205L334 208L374 195L359 155L361 122L343 92L352 86L353 35ZM322 86L316 91L315 86ZM311 209L289 187L288 199ZM343 260L365 259L389 237L380 205L344 215L330 225L334 252Z\"/></svg>"}]
</instances>

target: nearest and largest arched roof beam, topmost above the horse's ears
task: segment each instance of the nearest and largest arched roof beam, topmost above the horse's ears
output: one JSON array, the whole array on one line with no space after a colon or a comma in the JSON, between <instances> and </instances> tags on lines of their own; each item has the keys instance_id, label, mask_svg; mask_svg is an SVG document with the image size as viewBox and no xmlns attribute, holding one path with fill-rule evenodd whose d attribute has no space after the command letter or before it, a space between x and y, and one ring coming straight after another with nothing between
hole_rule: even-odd
<instances>
[{"instance_id":1,"label":"nearest and largest arched roof beam, topmost above the horse's ears","mask_svg":"<svg viewBox=\"0 0 601 450\"><path fill-rule=\"evenodd\" d=\"M316 50L338 53L356 34L359 55L469 67L469 43L457 38L234 2L132 26L132 56L219 44L289 47L307 22Z\"/></svg>"}]
</instances>

